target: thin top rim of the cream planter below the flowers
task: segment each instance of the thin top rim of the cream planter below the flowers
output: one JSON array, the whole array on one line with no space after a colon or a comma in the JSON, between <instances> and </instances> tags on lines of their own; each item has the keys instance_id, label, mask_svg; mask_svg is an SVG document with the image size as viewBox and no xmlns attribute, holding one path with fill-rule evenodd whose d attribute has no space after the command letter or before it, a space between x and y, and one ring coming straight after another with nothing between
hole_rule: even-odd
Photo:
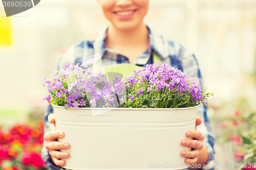
<instances>
[{"instance_id":1,"label":"thin top rim of the cream planter below the flowers","mask_svg":"<svg viewBox=\"0 0 256 170\"><path fill-rule=\"evenodd\" d=\"M54 104L51 104L53 107L57 107L57 108L65 108L63 106L57 106ZM193 107L183 107L183 108L91 108L91 107L82 107L82 108L75 108L75 107L70 107L69 109L79 109L79 110L186 110L186 109L194 109L199 107L199 105L197 106L193 106Z\"/></svg>"}]
</instances>

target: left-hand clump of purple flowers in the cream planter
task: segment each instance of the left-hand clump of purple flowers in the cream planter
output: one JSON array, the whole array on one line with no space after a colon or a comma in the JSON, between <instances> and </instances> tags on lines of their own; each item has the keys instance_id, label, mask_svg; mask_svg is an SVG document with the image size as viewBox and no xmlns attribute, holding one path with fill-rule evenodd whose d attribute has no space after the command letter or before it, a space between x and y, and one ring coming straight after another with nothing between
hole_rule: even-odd
<instances>
[{"instance_id":1,"label":"left-hand clump of purple flowers in the cream planter","mask_svg":"<svg viewBox=\"0 0 256 170\"><path fill-rule=\"evenodd\" d=\"M50 104L69 107L118 107L116 95L123 91L124 82L114 77L110 84L101 71L94 74L93 60L79 63L67 63L65 72L57 75L53 81L44 79L48 85L48 96L44 99ZM118 83L116 83L118 82Z\"/></svg>"}]
</instances>

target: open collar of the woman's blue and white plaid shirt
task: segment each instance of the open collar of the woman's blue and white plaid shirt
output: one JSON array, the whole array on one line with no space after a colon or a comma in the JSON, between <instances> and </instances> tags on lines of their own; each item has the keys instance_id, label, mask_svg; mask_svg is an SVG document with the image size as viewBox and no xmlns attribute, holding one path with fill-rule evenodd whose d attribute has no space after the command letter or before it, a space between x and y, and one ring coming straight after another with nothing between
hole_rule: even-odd
<instances>
[{"instance_id":1,"label":"open collar of the woman's blue and white plaid shirt","mask_svg":"<svg viewBox=\"0 0 256 170\"><path fill-rule=\"evenodd\" d=\"M169 56L167 50L168 48L164 46L165 43L162 36L156 35L148 26L146 27L148 30L148 36L150 37L150 48L153 49L161 59L167 58ZM105 25L93 43L95 63L99 61L104 53L108 50L105 47L106 31L108 28L109 25Z\"/></svg>"}]
</instances>

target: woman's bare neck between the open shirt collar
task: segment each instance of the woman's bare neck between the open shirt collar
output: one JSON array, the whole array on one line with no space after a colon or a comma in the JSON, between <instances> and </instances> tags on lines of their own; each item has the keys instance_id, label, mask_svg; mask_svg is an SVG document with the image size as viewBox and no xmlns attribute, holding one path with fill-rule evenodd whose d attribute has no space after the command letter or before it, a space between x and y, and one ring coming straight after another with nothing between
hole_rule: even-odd
<instances>
[{"instance_id":1,"label":"woman's bare neck between the open shirt collar","mask_svg":"<svg viewBox=\"0 0 256 170\"><path fill-rule=\"evenodd\" d=\"M133 63L149 47L148 31L144 23L132 30L119 30L110 25L105 46L129 58Z\"/></svg>"}]
</instances>

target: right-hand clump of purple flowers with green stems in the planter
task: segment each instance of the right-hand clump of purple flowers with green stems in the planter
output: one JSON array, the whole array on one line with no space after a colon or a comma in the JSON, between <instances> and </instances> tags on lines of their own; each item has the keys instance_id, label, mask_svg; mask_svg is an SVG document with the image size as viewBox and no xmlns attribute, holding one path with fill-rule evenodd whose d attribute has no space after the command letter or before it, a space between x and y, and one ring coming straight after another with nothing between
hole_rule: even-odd
<instances>
[{"instance_id":1,"label":"right-hand clump of purple flowers with green stems in the planter","mask_svg":"<svg viewBox=\"0 0 256 170\"><path fill-rule=\"evenodd\" d=\"M146 65L125 78L128 98L121 107L184 108L206 105L206 97L196 79L168 64ZM212 95L212 94L211 94Z\"/></svg>"}]
</instances>

